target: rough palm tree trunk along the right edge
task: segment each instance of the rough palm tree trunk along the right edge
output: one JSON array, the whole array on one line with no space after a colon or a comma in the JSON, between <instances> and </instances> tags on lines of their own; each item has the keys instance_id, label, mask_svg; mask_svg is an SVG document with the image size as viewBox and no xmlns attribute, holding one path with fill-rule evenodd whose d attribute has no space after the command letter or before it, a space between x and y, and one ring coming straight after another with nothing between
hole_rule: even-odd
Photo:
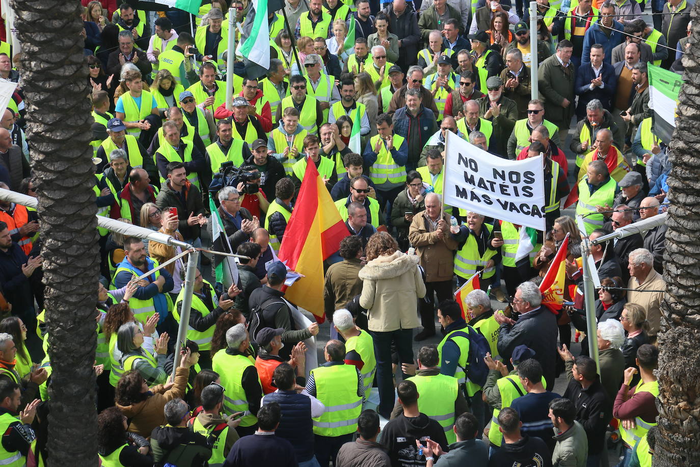
<instances>
[{"instance_id":1,"label":"rough palm tree trunk along the right edge","mask_svg":"<svg viewBox=\"0 0 700 467\"><path fill-rule=\"evenodd\" d=\"M691 13L700 22L700 6ZM672 169L666 225L664 279L659 333L659 407L654 466L700 465L700 31L685 54L685 75L676 130L669 155ZM669 53L672 53L669 51ZM665 323L664 323L665 321Z\"/></svg>"}]
</instances>

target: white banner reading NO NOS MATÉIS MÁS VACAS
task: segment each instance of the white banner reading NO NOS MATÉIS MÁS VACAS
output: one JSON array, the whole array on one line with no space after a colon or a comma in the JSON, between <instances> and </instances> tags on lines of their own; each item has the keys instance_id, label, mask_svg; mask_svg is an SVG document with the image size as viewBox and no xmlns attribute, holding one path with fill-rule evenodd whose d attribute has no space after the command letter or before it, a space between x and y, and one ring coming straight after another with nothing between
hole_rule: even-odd
<instances>
[{"instance_id":1,"label":"white banner reading NO NOS MAT\u00c9IS M\u00c1S VACAS","mask_svg":"<svg viewBox=\"0 0 700 467\"><path fill-rule=\"evenodd\" d=\"M447 132L444 204L545 230L542 158L507 160Z\"/></svg>"}]
</instances>

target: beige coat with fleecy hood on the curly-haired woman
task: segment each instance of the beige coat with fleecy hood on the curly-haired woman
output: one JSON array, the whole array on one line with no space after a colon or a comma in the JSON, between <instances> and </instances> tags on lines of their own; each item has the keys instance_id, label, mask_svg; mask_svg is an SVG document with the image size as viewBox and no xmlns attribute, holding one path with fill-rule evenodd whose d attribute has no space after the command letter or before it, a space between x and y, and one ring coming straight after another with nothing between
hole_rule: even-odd
<instances>
[{"instance_id":1,"label":"beige coat with fleecy hood on the curly-haired woman","mask_svg":"<svg viewBox=\"0 0 700 467\"><path fill-rule=\"evenodd\" d=\"M418 299L426 295L426 284L418 256L401 251L379 256L358 277L363 280L360 306L368 310L370 330L383 333L420 326Z\"/></svg>"}]
</instances>

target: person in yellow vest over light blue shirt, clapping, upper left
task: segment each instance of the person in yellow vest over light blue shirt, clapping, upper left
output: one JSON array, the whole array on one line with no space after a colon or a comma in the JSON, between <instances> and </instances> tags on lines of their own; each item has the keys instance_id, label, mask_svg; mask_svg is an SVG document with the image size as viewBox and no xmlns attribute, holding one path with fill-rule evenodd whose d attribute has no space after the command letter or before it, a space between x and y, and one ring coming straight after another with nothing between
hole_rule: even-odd
<instances>
[{"instance_id":1,"label":"person in yellow vest over light blue shirt, clapping, upper left","mask_svg":"<svg viewBox=\"0 0 700 467\"><path fill-rule=\"evenodd\" d=\"M151 122L146 120L146 117L160 115L158 104L151 92L144 91L140 71L127 71L124 83L129 92L120 95L115 107L115 116L124 122L129 134L139 137L141 130L151 130Z\"/></svg>"}]
</instances>

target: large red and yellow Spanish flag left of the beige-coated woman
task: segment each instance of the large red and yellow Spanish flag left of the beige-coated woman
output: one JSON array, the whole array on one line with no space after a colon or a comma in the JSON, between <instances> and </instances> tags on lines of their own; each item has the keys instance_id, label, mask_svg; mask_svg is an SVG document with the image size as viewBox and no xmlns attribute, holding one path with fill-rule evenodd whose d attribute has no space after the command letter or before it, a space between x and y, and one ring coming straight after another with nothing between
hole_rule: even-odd
<instances>
[{"instance_id":1,"label":"large red and yellow Spanish flag left of the beige-coated woman","mask_svg":"<svg viewBox=\"0 0 700 467\"><path fill-rule=\"evenodd\" d=\"M338 251L340 241L350 234L316 165L307 162L278 256L288 268L304 276L287 289L286 298L323 323L323 260Z\"/></svg>"}]
</instances>

